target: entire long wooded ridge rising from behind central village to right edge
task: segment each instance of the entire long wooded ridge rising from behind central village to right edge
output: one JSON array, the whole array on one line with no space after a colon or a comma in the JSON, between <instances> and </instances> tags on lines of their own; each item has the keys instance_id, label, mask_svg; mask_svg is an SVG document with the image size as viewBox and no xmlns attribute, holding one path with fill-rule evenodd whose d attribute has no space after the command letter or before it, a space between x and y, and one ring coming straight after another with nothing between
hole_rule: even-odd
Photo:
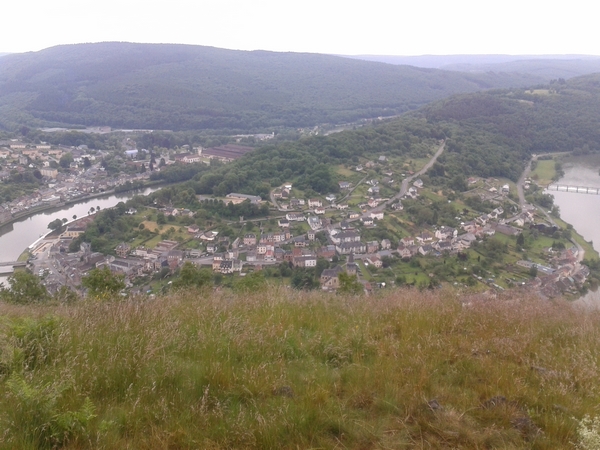
<instances>
[{"instance_id":1,"label":"entire long wooded ridge rising from behind central village to right edge","mask_svg":"<svg viewBox=\"0 0 600 450\"><path fill-rule=\"evenodd\" d=\"M266 198L284 182L308 196L335 192L335 166L386 156L428 158L441 139L446 151L427 176L452 187L466 176L517 180L532 153L600 151L600 74L535 90L461 94L378 126L268 144L231 164L194 177L196 194L244 192ZM208 170L208 169L207 169ZM168 171L156 174L168 181ZM452 187L455 189L455 187Z\"/></svg>"}]
</instances>

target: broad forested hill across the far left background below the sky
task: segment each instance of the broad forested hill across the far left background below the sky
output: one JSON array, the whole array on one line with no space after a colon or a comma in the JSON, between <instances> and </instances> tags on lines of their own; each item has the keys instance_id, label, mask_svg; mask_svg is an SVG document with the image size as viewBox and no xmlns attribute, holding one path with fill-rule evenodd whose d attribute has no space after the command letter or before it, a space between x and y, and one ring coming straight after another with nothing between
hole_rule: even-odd
<instances>
[{"instance_id":1,"label":"broad forested hill across the far left background below the sky","mask_svg":"<svg viewBox=\"0 0 600 450\"><path fill-rule=\"evenodd\" d=\"M0 60L0 127L268 130L392 116L528 75L394 66L330 55L98 43Z\"/></svg>"}]
</instances>

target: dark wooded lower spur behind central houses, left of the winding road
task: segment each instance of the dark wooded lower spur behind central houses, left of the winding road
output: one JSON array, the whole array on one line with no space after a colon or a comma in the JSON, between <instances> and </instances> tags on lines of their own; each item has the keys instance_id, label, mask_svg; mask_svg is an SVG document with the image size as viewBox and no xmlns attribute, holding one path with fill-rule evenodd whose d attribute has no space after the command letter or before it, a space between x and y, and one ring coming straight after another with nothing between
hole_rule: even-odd
<instances>
[{"instance_id":1,"label":"dark wooded lower spur behind central houses, left of the winding road","mask_svg":"<svg viewBox=\"0 0 600 450\"><path fill-rule=\"evenodd\" d=\"M244 158L194 177L198 194L223 196L230 192L267 198L272 187L285 182L307 195L339 190L335 165L356 165L378 156L423 158L445 136L442 127L422 119L392 121L330 136L268 144Z\"/></svg>"}]
</instances>

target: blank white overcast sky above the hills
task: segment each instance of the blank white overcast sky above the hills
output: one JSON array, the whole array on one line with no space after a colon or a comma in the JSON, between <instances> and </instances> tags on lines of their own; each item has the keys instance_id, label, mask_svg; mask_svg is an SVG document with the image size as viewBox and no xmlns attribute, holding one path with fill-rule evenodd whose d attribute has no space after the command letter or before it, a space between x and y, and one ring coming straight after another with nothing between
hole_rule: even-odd
<instances>
[{"instance_id":1,"label":"blank white overcast sky above the hills","mask_svg":"<svg viewBox=\"0 0 600 450\"><path fill-rule=\"evenodd\" d=\"M16 0L0 52L101 41L341 55L600 55L593 2Z\"/></svg>"}]
</instances>

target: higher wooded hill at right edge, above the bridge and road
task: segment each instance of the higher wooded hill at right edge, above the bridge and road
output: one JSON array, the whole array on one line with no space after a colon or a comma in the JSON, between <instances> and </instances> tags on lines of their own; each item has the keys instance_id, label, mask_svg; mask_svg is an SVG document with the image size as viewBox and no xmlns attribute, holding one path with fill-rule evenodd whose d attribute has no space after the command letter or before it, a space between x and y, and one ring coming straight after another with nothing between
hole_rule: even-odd
<instances>
[{"instance_id":1,"label":"higher wooded hill at right edge, above the bridge and road","mask_svg":"<svg viewBox=\"0 0 600 450\"><path fill-rule=\"evenodd\" d=\"M516 180L532 153L600 151L600 74L538 89L457 95L419 111L444 126L447 157L483 176Z\"/></svg>"}]
</instances>

